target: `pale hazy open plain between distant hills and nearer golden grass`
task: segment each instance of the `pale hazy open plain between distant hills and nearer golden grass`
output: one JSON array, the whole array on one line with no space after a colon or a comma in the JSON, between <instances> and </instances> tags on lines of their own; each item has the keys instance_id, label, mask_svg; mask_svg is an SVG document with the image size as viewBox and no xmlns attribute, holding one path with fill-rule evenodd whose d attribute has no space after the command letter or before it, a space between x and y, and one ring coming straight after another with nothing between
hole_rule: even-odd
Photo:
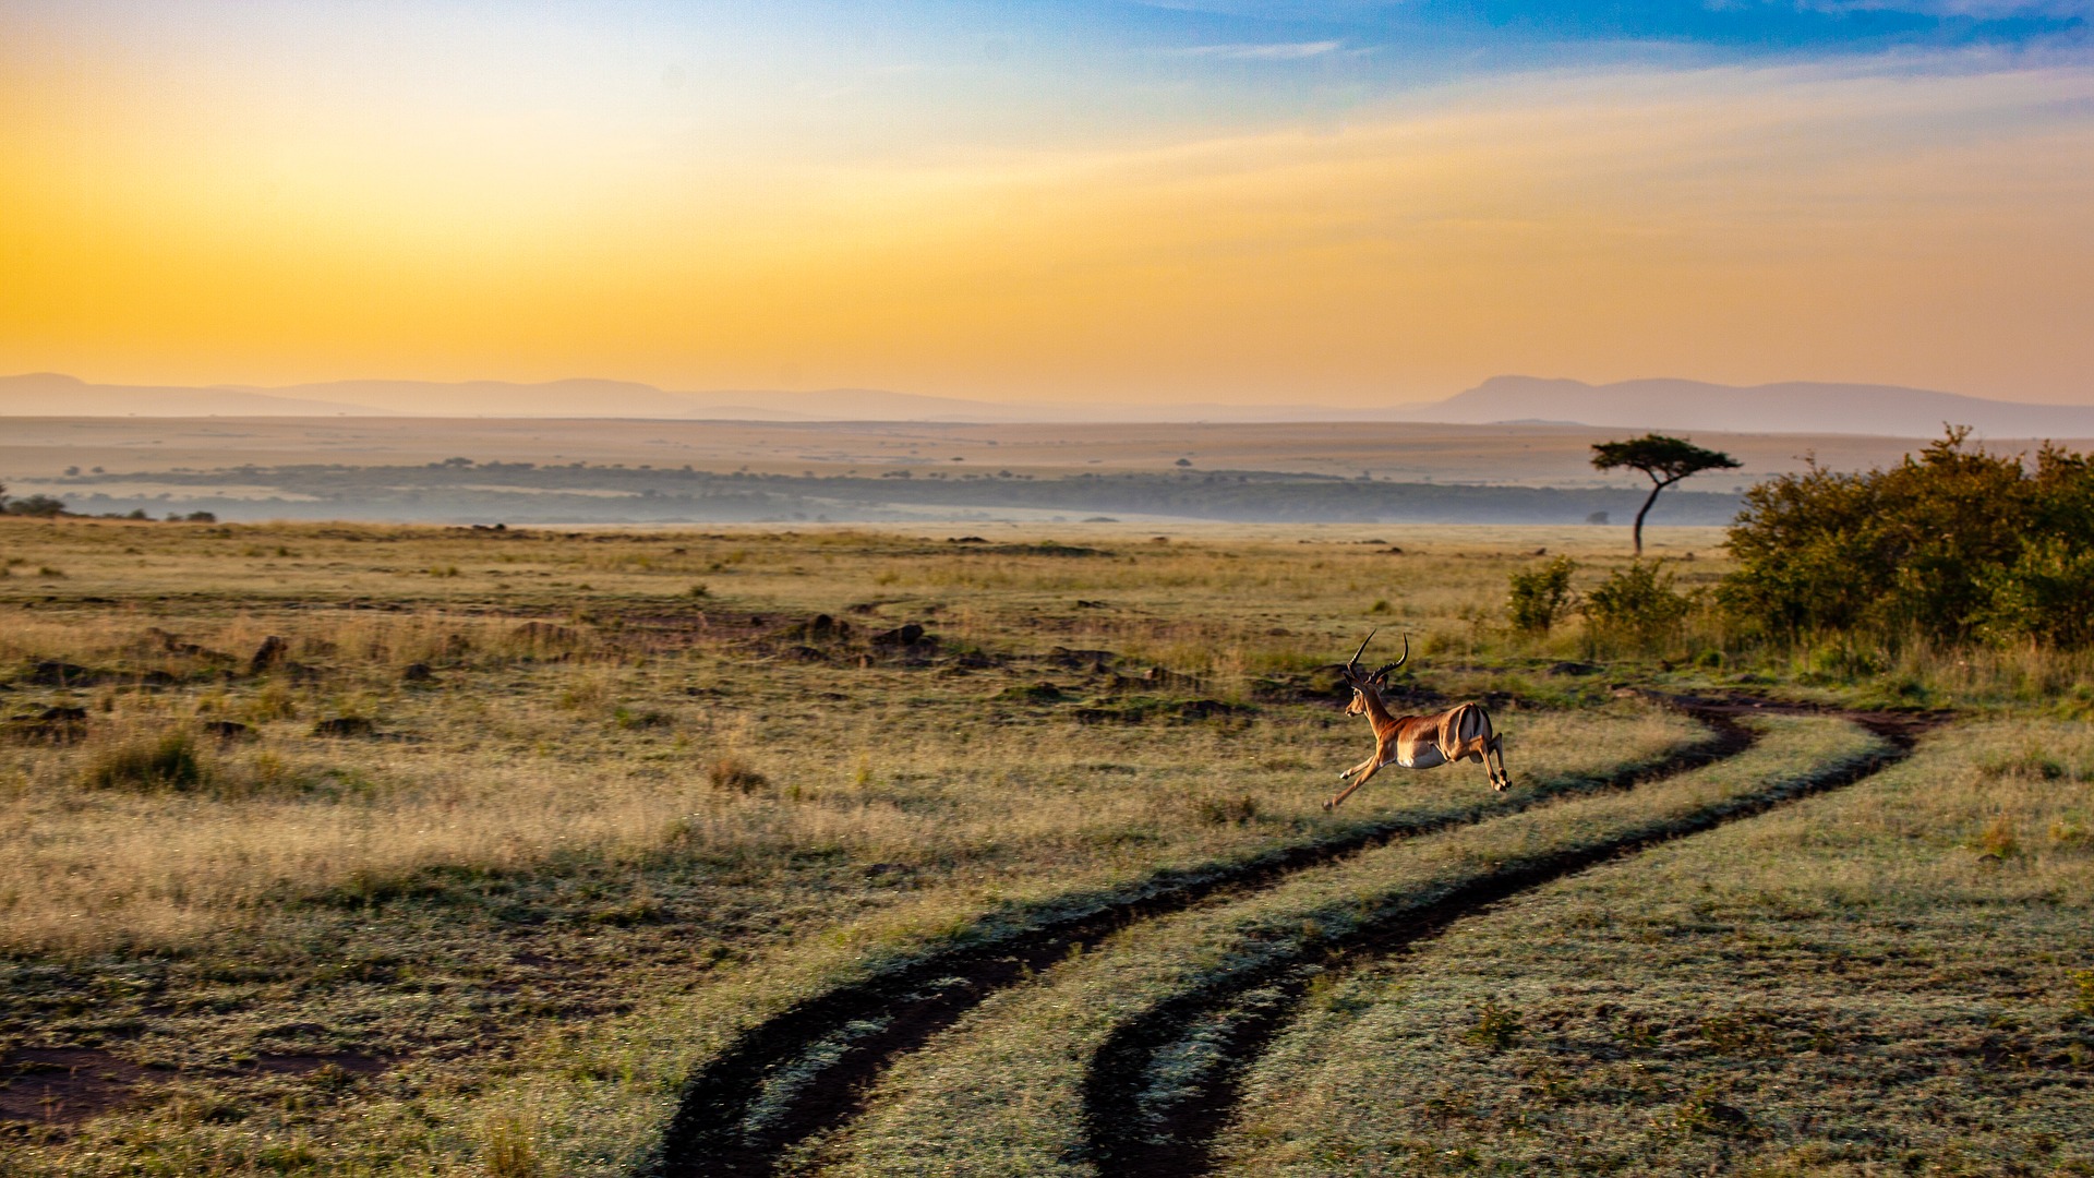
<instances>
[{"instance_id":1,"label":"pale hazy open plain between distant hills and nearer golden grass","mask_svg":"<svg viewBox=\"0 0 2094 1178\"><path fill-rule=\"evenodd\" d=\"M1591 444L1623 430L1552 423L4 421L0 472L15 497L239 522L1625 524L1650 486L1591 467ZM1811 459L1895 465L1912 449L1843 434L1696 436L1742 465L1669 490L1652 522L1725 524L1751 482Z\"/></svg>"}]
</instances>

